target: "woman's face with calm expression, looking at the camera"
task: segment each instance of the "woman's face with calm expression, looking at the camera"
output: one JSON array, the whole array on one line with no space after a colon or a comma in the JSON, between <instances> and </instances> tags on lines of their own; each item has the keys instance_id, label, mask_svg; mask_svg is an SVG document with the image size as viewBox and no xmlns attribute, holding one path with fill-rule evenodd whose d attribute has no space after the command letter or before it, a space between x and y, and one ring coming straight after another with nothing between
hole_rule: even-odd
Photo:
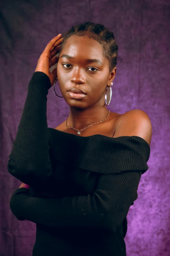
<instances>
[{"instance_id":1,"label":"woman's face with calm expression, looking at the camera","mask_svg":"<svg viewBox=\"0 0 170 256\"><path fill-rule=\"evenodd\" d=\"M108 60L103 56L102 46L97 41L88 36L76 35L67 39L60 53L57 77L64 100L70 107L103 106L106 86L111 83L109 79L113 80L115 74L116 68L113 74L109 74ZM83 90L86 95L81 99L71 98L68 90L72 87Z\"/></svg>"}]
</instances>

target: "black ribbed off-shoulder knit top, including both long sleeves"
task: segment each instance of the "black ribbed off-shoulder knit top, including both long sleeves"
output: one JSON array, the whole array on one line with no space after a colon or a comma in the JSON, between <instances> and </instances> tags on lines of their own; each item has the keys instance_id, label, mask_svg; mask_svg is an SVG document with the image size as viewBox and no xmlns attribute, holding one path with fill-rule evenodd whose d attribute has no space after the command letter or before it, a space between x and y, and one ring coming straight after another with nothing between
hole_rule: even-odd
<instances>
[{"instance_id":1,"label":"black ribbed off-shoulder knit top, including both long sleeves","mask_svg":"<svg viewBox=\"0 0 170 256\"><path fill-rule=\"evenodd\" d=\"M30 189L14 192L11 211L36 223L33 256L125 256L126 216L148 170L149 144L47 128L49 88L49 77L35 72L7 166Z\"/></svg>"}]
</instances>

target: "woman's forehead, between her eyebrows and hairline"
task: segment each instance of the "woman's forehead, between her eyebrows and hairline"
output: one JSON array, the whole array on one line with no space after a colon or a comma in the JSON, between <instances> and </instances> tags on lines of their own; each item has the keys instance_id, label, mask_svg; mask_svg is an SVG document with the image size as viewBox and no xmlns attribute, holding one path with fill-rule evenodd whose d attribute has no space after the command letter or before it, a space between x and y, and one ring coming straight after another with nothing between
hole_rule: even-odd
<instances>
[{"instance_id":1,"label":"woman's forehead, between her eyebrows and hairline","mask_svg":"<svg viewBox=\"0 0 170 256\"><path fill-rule=\"evenodd\" d=\"M86 53L86 55L100 55L102 58L103 56L103 50L102 46L100 43L98 43L96 40L89 38L87 35L86 36L76 36L72 35L70 36L64 47L62 52L64 53L69 51L69 53L76 51L77 53ZM75 54L76 54L75 52ZM91 56L92 57L92 56Z\"/></svg>"}]
</instances>

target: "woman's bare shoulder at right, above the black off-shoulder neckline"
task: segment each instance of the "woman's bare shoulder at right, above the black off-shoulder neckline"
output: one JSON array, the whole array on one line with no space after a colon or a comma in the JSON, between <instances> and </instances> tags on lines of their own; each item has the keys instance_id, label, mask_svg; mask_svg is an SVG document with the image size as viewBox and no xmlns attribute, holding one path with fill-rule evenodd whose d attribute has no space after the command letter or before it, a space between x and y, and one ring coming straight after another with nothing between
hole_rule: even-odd
<instances>
[{"instance_id":1,"label":"woman's bare shoulder at right, above the black off-shoulder neckline","mask_svg":"<svg viewBox=\"0 0 170 256\"><path fill-rule=\"evenodd\" d=\"M120 136L138 136L150 145L152 125L148 114L140 109L130 110L121 114L117 120L114 138Z\"/></svg>"}]
</instances>

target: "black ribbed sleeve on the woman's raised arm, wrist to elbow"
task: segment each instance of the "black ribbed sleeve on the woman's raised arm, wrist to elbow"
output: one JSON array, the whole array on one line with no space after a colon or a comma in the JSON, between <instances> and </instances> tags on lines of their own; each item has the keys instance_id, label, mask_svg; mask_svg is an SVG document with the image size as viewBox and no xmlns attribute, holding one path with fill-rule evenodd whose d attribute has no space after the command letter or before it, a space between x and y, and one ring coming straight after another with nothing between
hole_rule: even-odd
<instances>
[{"instance_id":1,"label":"black ribbed sleeve on the woman's raised arm, wrist to elbow","mask_svg":"<svg viewBox=\"0 0 170 256\"><path fill-rule=\"evenodd\" d=\"M51 175L47 127L47 94L50 79L43 72L34 72L7 169L28 185L44 182Z\"/></svg>"}]
</instances>

